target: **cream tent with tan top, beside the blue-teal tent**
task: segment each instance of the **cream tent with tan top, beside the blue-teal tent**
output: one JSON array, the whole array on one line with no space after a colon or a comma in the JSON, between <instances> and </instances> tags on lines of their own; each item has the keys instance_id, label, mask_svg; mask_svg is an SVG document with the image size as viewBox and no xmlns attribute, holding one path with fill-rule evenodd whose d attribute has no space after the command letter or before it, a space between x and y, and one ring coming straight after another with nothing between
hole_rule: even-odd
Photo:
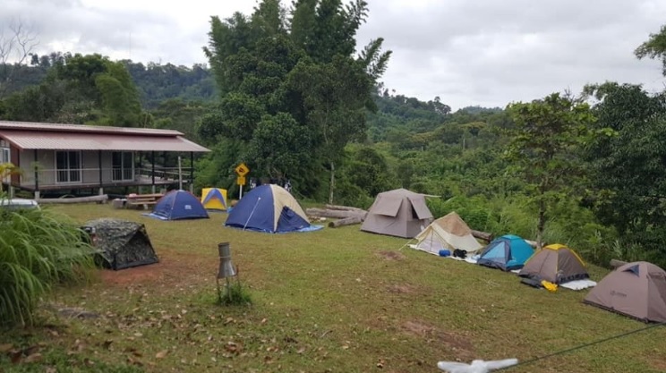
<instances>
[{"instance_id":1,"label":"cream tent with tan top, beside the blue-teal tent","mask_svg":"<svg viewBox=\"0 0 666 373\"><path fill-rule=\"evenodd\" d=\"M416 236L415 249L431 252L435 255L440 250L465 250L468 253L480 250L481 243L476 241L472 230L455 211L442 216L428 225Z\"/></svg>"}]
</instances>

